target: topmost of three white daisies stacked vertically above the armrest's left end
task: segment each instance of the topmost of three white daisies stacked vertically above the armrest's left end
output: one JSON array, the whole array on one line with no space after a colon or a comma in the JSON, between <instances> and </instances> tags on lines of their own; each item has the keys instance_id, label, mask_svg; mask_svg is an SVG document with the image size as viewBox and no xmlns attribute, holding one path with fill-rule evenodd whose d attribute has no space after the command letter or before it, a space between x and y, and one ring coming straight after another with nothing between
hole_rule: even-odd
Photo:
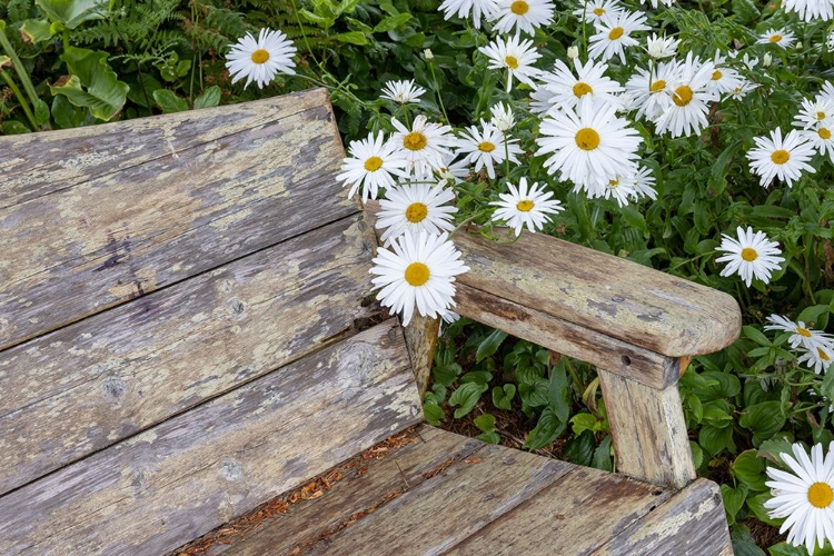
<instances>
[{"instance_id":1,"label":"topmost of three white daisies stacked vertically above the armrest's left end","mask_svg":"<svg viewBox=\"0 0 834 556\"><path fill-rule=\"evenodd\" d=\"M423 115L414 119L411 129L396 119L391 119L391 123L397 131L390 142L407 160L408 176L416 179L430 177L433 171L443 167L445 157L451 155L449 147L455 143L455 138L448 135L451 131L449 126L430 123Z\"/></svg>"}]
</instances>

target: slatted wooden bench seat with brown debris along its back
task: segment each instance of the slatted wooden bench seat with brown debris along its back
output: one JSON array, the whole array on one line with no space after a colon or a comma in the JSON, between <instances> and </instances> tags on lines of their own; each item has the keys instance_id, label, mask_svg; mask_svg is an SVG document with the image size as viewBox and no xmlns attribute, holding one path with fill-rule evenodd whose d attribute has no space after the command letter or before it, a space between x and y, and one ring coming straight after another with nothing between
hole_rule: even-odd
<instances>
[{"instance_id":1,"label":"slatted wooden bench seat with brown debris along its back","mask_svg":"<svg viewBox=\"0 0 834 556\"><path fill-rule=\"evenodd\" d=\"M195 554L732 550L714 483L677 492L421 425L171 556Z\"/></svg>"}]
</instances>

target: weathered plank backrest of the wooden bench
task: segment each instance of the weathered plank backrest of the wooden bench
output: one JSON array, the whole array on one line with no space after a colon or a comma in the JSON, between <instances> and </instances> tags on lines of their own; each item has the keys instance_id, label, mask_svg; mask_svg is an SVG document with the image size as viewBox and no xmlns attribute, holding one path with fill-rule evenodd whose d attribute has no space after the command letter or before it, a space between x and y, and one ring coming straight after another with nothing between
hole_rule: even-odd
<instances>
[{"instance_id":1,"label":"weathered plank backrest of the wooden bench","mask_svg":"<svg viewBox=\"0 0 834 556\"><path fill-rule=\"evenodd\" d=\"M158 554L421 419L321 90L0 138L0 553Z\"/></svg>"}]
</instances>

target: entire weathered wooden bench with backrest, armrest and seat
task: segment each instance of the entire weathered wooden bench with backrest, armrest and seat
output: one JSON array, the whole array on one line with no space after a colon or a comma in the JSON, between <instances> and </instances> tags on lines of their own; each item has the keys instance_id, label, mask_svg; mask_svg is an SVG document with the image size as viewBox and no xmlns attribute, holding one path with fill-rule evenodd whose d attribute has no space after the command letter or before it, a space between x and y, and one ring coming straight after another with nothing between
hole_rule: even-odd
<instances>
[{"instance_id":1,"label":"entire weathered wooden bench with backrest, armrest and seat","mask_svg":"<svg viewBox=\"0 0 834 556\"><path fill-rule=\"evenodd\" d=\"M342 157L321 90L0 138L0 554L165 554L280 495L209 553L731 554L676 380L735 301L459 232L459 312L597 365L620 473L420 425L436 322L371 301Z\"/></svg>"}]
</instances>

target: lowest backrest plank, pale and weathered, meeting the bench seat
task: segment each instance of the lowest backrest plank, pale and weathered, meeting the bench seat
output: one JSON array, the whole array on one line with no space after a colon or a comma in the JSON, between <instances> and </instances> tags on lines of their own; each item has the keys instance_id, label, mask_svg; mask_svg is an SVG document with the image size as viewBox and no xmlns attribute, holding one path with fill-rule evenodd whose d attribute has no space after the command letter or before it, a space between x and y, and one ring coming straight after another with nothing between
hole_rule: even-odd
<instances>
[{"instance_id":1,"label":"lowest backrest plank, pale and weathered, meeting the bench seat","mask_svg":"<svg viewBox=\"0 0 834 556\"><path fill-rule=\"evenodd\" d=\"M160 554L420 419L388 320L6 495L0 553Z\"/></svg>"}]
</instances>

